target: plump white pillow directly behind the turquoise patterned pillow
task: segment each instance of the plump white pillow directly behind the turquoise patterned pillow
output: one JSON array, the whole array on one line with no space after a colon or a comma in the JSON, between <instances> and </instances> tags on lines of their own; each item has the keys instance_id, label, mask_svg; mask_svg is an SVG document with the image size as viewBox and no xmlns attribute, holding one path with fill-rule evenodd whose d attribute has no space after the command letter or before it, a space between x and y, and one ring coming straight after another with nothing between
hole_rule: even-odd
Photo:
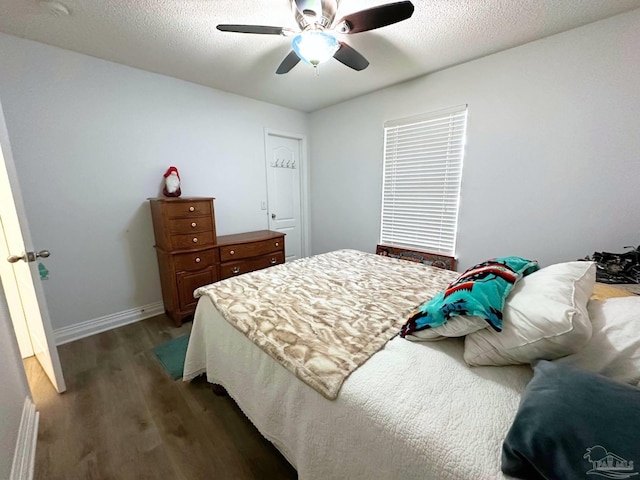
<instances>
[{"instance_id":1,"label":"plump white pillow directly behind the turquoise patterned pillow","mask_svg":"<svg viewBox=\"0 0 640 480\"><path fill-rule=\"evenodd\" d=\"M502 332L467 335L469 365L515 365L553 360L579 351L591 338L587 302L595 284L593 262L550 265L522 278L503 309Z\"/></svg>"}]
</instances>

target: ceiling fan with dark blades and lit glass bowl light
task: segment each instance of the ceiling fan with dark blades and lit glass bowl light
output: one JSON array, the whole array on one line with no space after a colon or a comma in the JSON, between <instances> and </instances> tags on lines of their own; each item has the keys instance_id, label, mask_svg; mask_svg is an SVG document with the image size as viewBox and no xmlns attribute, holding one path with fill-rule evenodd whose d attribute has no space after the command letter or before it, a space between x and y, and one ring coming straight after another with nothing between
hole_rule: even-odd
<instances>
[{"instance_id":1,"label":"ceiling fan with dark blades and lit glass bowl light","mask_svg":"<svg viewBox=\"0 0 640 480\"><path fill-rule=\"evenodd\" d=\"M266 25L218 25L223 32L257 33L293 37L292 51L285 57L277 74L289 72L302 59L317 68L335 58L354 70L364 70L369 62L354 48L338 40L335 34L367 32L408 19L413 14L410 1L388 3L360 10L334 23L339 0L291 0L299 30Z\"/></svg>"}]
</instances>

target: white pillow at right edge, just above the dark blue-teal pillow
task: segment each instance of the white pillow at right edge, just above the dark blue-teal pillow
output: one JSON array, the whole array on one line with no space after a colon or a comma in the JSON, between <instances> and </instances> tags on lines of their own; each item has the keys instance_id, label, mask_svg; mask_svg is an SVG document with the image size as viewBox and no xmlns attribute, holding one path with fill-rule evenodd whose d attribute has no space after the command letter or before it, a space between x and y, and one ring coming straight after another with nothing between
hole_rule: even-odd
<instances>
[{"instance_id":1,"label":"white pillow at right edge, just above the dark blue-teal pillow","mask_svg":"<svg viewBox=\"0 0 640 480\"><path fill-rule=\"evenodd\" d=\"M640 297L592 300L587 308L593 325L591 340L579 352L556 361L636 385L640 382Z\"/></svg>"}]
</instances>

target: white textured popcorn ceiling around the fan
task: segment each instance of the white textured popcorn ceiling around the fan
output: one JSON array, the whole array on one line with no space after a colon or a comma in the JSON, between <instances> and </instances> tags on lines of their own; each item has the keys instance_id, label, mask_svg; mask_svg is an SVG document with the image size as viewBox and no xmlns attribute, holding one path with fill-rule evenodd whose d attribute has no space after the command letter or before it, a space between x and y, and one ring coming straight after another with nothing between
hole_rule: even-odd
<instances>
[{"instance_id":1,"label":"white textured popcorn ceiling around the fan","mask_svg":"<svg viewBox=\"0 0 640 480\"><path fill-rule=\"evenodd\" d=\"M46 1L0 0L0 31L308 112L640 8L640 0L412 0L409 20L342 36L367 69L330 60L319 75L302 62L276 75L288 38L215 26L295 29L289 0L60 1L70 15ZM384 3L342 0L336 18Z\"/></svg>"}]
</instances>

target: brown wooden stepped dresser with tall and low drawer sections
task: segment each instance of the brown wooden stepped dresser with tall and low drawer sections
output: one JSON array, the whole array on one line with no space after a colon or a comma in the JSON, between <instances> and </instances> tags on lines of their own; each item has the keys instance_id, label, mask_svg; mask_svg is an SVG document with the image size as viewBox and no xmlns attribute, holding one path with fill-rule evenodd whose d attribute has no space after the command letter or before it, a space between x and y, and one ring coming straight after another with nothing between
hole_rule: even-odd
<instances>
[{"instance_id":1,"label":"brown wooden stepped dresser with tall and low drawer sections","mask_svg":"<svg viewBox=\"0 0 640 480\"><path fill-rule=\"evenodd\" d=\"M180 326L193 315L193 291L234 275L284 263L284 234L216 236L213 198L150 198L165 312Z\"/></svg>"}]
</instances>

